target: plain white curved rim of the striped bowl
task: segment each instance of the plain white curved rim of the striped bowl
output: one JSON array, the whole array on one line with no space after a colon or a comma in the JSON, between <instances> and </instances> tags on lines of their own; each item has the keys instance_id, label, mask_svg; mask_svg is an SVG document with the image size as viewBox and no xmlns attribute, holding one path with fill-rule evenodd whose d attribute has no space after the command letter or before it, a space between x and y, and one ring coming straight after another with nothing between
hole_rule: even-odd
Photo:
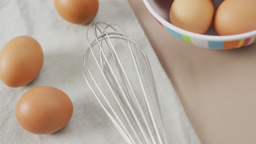
<instances>
[{"instance_id":1,"label":"plain white curved rim of the striped bowl","mask_svg":"<svg viewBox=\"0 0 256 144\"><path fill-rule=\"evenodd\" d=\"M156 11L152 8L148 0L143 0L144 4L146 5L149 12L155 17L156 20L162 23L165 27L168 27L172 29L173 31L180 33L182 35L186 35L187 37L202 39L202 40L208 40L208 41L233 41L233 40L240 40L240 39L246 39L249 37L254 37L256 35L256 30L242 33L242 34L236 34L236 35L205 35L205 34L197 34L193 32L186 31L184 29L178 28L174 25L172 25L170 22L163 19Z\"/></svg>"}]
</instances>

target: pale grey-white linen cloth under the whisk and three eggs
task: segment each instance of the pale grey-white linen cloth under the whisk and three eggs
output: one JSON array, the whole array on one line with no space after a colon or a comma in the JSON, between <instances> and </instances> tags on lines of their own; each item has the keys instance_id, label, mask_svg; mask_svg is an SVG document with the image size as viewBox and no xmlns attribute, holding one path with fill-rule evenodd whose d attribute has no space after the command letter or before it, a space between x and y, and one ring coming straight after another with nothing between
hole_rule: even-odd
<instances>
[{"instance_id":1,"label":"pale grey-white linen cloth under the whisk and three eggs","mask_svg":"<svg viewBox=\"0 0 256 144\"><path fill-rule=\"evenodd\" d=\"M63 20L56 12L53 0L1 0L0 17L0 49L14 37L29 35L38 40L44 51L43 68L32 83L10 88L0 82L0 143L125 143L82 75L88 25L74 25ZM126 0L100 0L94 21L118 23L147 53L168 143L200 143L129 3ZM16 120L15 107L21 95L37 86L59 88L73 101L71 121L57 133L31 134Z\"/></svg>"}]
</instances>

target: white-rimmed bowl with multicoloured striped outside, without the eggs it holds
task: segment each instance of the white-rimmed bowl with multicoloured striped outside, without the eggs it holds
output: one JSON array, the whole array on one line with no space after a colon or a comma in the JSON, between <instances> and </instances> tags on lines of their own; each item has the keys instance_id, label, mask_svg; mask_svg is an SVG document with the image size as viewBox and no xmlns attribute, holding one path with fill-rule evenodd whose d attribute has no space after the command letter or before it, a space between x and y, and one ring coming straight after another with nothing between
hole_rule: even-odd
<instances>
[{"instance_id":1,"label":"white-rimmed bowl with multicoloured striped outside, without the eggs it holds","mask_svg":"<svg viewBox=\"0 0 256 144\"><path fill-rule=\"evenodd\" d=\"M216 33L214 26L212 25L204 34L185 31L184 29L178 28L170 23L169 11L173 0L143 1L149 12L155 17L155 20L158 21L162 27L178 39L189 44L206 49L228 50L247 46L256 42L256 30L242 34L220 36ZM213 2L217 9L223 0L215 0Z\"/></svg>"}]
</instances>

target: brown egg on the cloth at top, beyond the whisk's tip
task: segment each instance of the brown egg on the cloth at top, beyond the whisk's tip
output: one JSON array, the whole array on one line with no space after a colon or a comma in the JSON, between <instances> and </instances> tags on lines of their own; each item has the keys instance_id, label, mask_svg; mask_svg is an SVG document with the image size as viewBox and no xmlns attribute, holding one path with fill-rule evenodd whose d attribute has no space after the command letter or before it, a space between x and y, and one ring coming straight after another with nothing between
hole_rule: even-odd
<instances>
[{"instance_id":1,"label":"brown egg on the cloth at top, beyond the whisk's tip","mask_svg":"<svg viewBox=\"0 0 256 144\"><path fill-rule=\"evenodd\" d=\"M54 0L54 5L63 19L76 24L89 23L98 11L98 0Z\"/></svg>"}]
</instances>

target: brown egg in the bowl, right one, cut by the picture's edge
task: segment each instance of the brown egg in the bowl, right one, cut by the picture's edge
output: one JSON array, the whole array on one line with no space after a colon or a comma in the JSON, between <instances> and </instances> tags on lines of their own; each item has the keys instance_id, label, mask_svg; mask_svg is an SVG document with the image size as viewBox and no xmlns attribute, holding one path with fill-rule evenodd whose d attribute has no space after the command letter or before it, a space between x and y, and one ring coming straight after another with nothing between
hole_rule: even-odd
<instances>
[{"instance_id":1,"label":"brown egg in the bowl, right one, cut by the picture's edge","mask_svg":"<svg viewBox=\"0 0 256 144\"><path fill-rule=\"evenodd\" d=\"M256 0L225 0L216 11L214 27L219 35L256 30Z\"/></svg>"}]
</instances>

